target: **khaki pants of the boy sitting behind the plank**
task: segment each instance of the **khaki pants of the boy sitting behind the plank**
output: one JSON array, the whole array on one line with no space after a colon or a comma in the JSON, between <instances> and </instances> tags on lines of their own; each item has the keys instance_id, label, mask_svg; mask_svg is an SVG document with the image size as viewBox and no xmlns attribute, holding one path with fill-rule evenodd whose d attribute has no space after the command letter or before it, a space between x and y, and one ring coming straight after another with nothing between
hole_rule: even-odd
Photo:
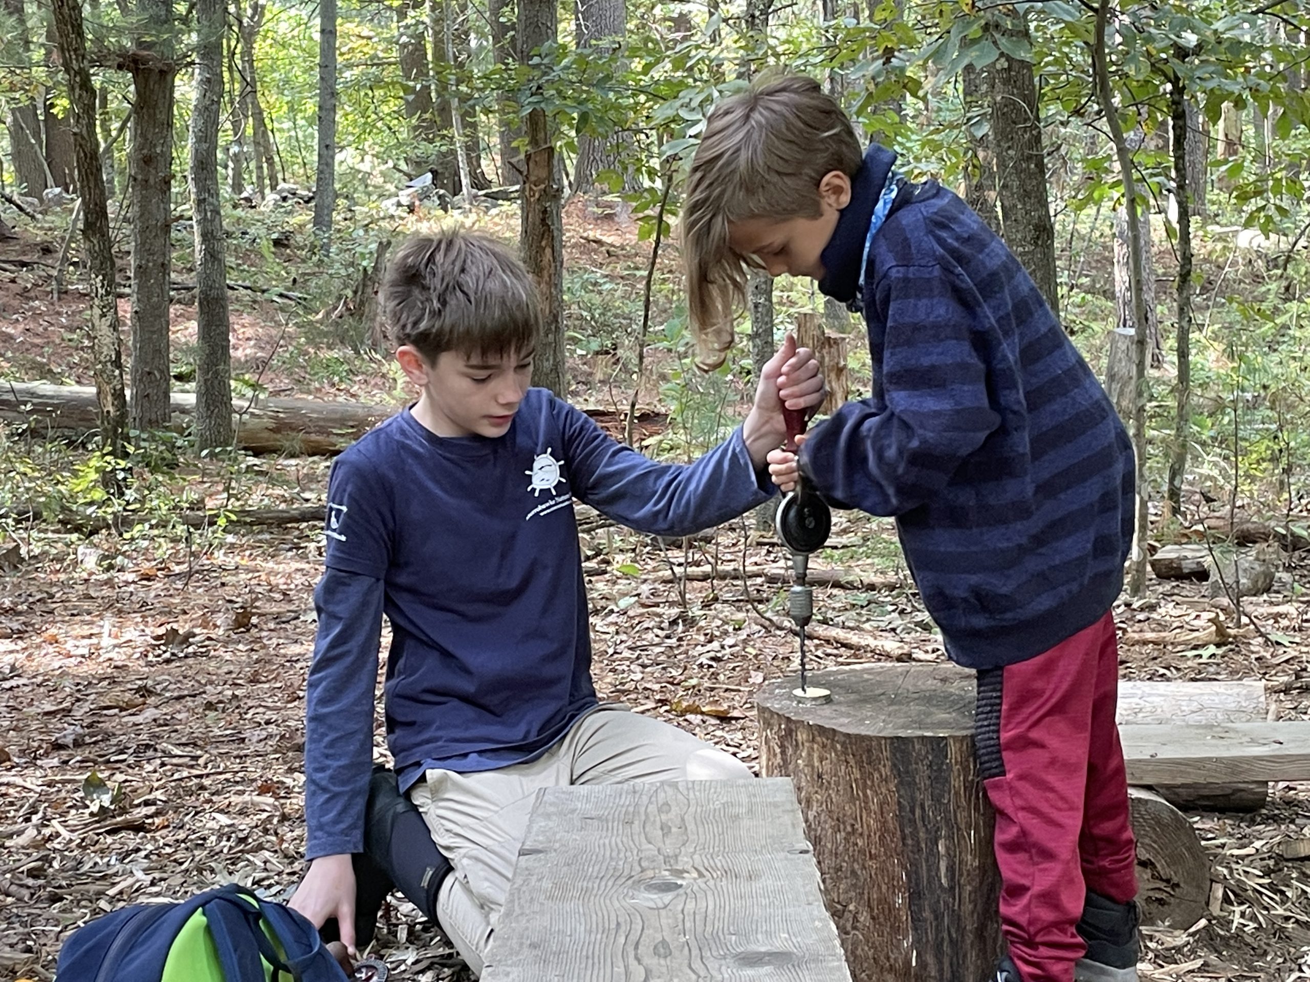
<instances>
[{"instance_id":1,"label":"khaki pants of the boy sitting behind the plank","mask_svg":"<svg viewBox=\"0 0 1310 982\"><path fill-rule=\"evenodd\" d=\"M731 754L617 706L601 706L583 716L531 763L477 774L430 770L410 788L410 797L455 867L438 900L441 927L481 975L541 788L749 778L751 771Z\"/></svg>"}]
</instances>

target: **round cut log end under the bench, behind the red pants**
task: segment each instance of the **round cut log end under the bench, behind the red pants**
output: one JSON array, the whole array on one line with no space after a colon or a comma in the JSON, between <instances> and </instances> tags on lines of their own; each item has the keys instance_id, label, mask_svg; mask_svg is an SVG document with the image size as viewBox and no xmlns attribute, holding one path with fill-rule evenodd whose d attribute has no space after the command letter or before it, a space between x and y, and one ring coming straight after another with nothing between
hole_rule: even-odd
<instances>
[{"instance_id":1,"label":"round cut log end under the bench, behind the red pants","mask_svg":"<svg viewBox=\"0 0 1310 982\"><path fill-rule=\"evenodd\" d=\"M1186 931L1210 896L1210 859L1187 816L1145 788L1128 790L1137 835L1137 902L1142 923Z\"/></svg>"}]
</instances>

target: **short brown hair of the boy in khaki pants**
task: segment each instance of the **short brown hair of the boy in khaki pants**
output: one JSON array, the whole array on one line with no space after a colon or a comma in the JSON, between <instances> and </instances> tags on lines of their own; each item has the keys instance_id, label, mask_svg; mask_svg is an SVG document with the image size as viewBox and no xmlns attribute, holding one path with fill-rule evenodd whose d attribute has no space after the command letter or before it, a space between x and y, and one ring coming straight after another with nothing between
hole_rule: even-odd
<instances>
[{"instance_id":1,"label":"short brown hair of the boy in khaki pants","mask_svg":"<svg viewBox=\"0 0 1310 982\"><path fill-rule=\"evenodd\" d=\"M536 287L517 257L458 229L407 238L386 264L379 301L396 346L430 363L444 351L525 354L541 330Z\"/></svg>"}]
</instances>

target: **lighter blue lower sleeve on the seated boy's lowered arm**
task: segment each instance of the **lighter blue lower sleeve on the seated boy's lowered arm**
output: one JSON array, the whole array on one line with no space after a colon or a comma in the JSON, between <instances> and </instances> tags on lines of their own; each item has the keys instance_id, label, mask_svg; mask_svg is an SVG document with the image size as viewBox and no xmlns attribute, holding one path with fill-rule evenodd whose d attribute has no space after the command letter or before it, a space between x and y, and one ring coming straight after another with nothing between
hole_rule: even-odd
<instances>
[{"instance_id":1,"label":"lighter blue lower sleeve on the seated boy's lowered arm","mask_svg":"<svg viewBox=\"0 0 1310 982\"><path fill-rule=\"evenodd\" d=\"M328 570L305 693L305 855L359 852L373 758L380 580Z\"/></svg>"}]
</instances>

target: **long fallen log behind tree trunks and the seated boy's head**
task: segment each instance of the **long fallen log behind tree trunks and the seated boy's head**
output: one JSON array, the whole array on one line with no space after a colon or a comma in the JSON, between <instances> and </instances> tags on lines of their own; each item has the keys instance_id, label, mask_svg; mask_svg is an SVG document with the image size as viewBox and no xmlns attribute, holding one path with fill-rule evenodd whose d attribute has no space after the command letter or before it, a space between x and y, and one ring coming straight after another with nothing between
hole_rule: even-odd
<instances>
[{"instance_id":1,"label":"long fallen log behind tree trunks and the seated boy's head","mask_svg":"<svg viewBox=\"0 0 1310 982\"><path fill-rule=\"evenodd\" d=\"M169 429L186 432L195 415L195 394L172 394ZM398 410L359 402L320 399L255 399L233 407L237 449L248 453L282 453L292 457L335 454ZM622 427L608 409L583 407L601 428L613 433ZM665 414L641 410L638 423L647 432L663 428ZM0 382L0 422L26 426L37 433L85 436L100 426L96 390L89 385L46 382Z\"/></svg>"}]
</instances>

